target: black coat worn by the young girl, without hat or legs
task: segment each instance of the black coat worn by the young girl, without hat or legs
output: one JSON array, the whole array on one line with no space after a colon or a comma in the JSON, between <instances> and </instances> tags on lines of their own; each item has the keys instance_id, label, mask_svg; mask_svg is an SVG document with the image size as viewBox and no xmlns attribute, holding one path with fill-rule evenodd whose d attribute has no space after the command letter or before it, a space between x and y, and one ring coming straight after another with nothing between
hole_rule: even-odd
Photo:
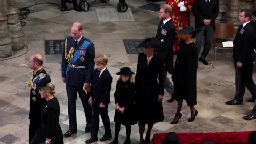
<instances>
[{"instance_id":1,"label":"black coat worn by the young girl, without hat or legs","mask_svg":"<svg viewBox=\"0 0 256 144\"><path fill-rule=\"evenodd\" d=\"M135 84L131 82L117 81L115 91L115 103L118 103L122 108L124 107L124 113L115 111L114 122L122 125L134 125L137 124L134 105Z\"/></svg>"}]
</instances>

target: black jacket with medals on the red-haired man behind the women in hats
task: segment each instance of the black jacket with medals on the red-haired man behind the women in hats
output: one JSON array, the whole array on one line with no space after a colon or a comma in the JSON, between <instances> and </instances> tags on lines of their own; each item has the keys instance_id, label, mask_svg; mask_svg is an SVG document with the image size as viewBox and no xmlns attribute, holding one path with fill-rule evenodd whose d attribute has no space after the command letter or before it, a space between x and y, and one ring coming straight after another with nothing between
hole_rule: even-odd
<instances>
[{"instance_id":1,"label":"black jacket with medals on the red-haired man behind the women in hats","mask_svg":"<svg viewBox=\"0 0 256 144\"><path fill-rule=\"evenodd\" d=\"M165 69L168 73L173 74L173 43L176 35L175 26L173 25L172 20L169 20L163 27L161 27L162 22L163 21L161 20L156 33L156 39L163 42L161 45L158 45L157 55L164 61ZM166 33L163 32L164 30L166 30Z\"/></svg>"}]
</instances>

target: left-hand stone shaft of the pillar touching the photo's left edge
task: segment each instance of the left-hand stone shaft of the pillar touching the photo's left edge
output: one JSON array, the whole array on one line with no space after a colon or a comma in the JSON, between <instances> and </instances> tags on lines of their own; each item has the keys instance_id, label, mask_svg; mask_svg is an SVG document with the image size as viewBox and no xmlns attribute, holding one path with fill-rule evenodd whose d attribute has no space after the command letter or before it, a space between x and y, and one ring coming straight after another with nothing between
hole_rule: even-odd
<instances>
[{"instance_id":1,"label":"left-hand stone shaft of the pillar touching the photo's left edge","mask_svg":"<svg viewBox=\"0 0 256 144\"><path fill-rule=\"evenodd\" d=\"M0 0L0 58L6 58L12 55L7 19L4 0Z\"/></svg>"}]
</instances>

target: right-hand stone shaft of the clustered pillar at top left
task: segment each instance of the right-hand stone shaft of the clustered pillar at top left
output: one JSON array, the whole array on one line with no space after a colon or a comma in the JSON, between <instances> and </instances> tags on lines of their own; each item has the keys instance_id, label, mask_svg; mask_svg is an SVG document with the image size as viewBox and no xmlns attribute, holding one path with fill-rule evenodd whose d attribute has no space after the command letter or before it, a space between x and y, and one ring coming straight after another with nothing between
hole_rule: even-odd
<instances>
[{"instance_id":1,"label":"right-hand stone shaft of the clustered pillar at top left","mask_svg":"<svg viewBox=\"0 0 256 144\"><path fill-rule=\"evenodd\" d=\"M8 25L9 34L12 41L12 50L19 51L24 48L25 35L21 31L21 23L19 18L20 10L16 7L16 0L8 0Z\"/></svg>"}]
</instances>

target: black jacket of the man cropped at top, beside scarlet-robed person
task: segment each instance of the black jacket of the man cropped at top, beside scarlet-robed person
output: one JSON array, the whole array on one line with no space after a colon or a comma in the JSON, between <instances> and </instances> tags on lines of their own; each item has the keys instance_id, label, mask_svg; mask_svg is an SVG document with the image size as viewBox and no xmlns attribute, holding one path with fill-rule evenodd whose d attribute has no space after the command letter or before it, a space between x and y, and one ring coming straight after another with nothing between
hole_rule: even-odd
<instances>
[{"instance_id":1,"label":"black jacket of the man cropped at top, beside scarlet-robed person","mask_svg":"<svg viewBox=\"0 0 256 144\"><path fill-rule=\"evenodd\" d=\"M215 30L215 20L220 12L219 0L210 0L209 15L205 0L195 0L193 3L193 14L195 16L195 28L201 28L204 25L204 19L211 19L211 25Z\"/></svg>"}]
</instances>

